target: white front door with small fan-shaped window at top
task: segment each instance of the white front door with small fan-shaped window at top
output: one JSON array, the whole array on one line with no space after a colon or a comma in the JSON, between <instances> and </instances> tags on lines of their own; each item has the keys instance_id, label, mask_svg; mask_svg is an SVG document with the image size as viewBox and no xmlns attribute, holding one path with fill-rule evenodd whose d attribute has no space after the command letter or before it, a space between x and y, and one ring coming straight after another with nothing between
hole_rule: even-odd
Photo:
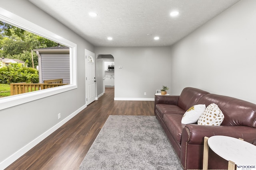
<instances>
[{"instance_id":1,"label":"white front door with small fan-shaped window at top","mask_svg":"<svg viewBox=\"0 0 256 170\"><path fill-rule=\"evenodd\" d=\"M95 100L95 54L85 50L86 63L86 106Z\"/></svg>"}]
</instances>

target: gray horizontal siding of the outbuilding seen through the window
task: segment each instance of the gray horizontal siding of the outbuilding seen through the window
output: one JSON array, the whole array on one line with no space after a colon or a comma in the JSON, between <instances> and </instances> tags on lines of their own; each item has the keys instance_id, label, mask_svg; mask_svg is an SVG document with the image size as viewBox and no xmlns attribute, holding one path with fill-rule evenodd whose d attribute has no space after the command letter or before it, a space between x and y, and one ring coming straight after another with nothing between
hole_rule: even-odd
<instances>
[{"instance_id":1,"label":"gray horizontal siding of the outbuilding seen through the window","mask_svg":"<svg viewBox=\"0 0 256 170\"><path fill-rule=\"evenodd\" d=\"M69 53L40 53L42 65L42 82L51 79L63 79L70 84L70 55Z\"/></svg>"}]
</instances>

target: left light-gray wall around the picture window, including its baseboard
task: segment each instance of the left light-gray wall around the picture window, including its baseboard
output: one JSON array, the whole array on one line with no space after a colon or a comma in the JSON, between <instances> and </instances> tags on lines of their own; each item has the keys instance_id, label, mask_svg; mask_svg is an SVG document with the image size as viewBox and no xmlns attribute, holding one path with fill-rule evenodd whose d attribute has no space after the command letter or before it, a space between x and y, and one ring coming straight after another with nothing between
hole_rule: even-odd
<instances>
[{"instance_id":1,"label":"left light-gray wall around the picture window, including its baseboard","mask_svg":"<svg viewBox=\"0 0 256 170\"><path fill-rule=\"evenodd\" d=\"M77 89L0 111L0 169L4 169L43 139L49 129L86 107L84 49L94 51L94 47L27 0L0 0L0 7L76 43L78 72Z\"/></svg>"}]
</instances>

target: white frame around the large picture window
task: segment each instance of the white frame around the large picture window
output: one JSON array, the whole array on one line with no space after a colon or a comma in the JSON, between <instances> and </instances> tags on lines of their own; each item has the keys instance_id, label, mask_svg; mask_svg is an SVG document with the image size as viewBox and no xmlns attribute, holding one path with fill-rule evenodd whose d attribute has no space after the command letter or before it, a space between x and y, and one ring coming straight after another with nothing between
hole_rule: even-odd
<instances>
[{"instance_id":1,"label":"white frame around the large picture window","mask_svg":"<svg viewBox=\"0 0 256 170\"><path fill-rule=\"evenodd\" d=\"M75 43L57 35L56 33L48 31L47 29L44 29L43 27L40 27L35 23L25 20L24 18L21 18L20 16L17 16L16 14L13 14L12 12L9 12L1 7L0 7L0 20L8 24L14 25L16 27L19 27L21 29L24 29L26 31L29 31L31 33L34 33L36 35L39 35L41 37L50 39L62 45L66 45L67 47L70 47L70 84L65 86L59 86L55 88L49 88L45 90L38 90L35 92L29 92L29 93L0 98L0 110L7 109L20 104L24 104L27 102L32 102L34 100L38 100L41 98L46 98L48 96L52 96L62 92L67 92L69 90L73 90L77 88L77 66L76 66L77 65L76 63L77 45Z\"/></svg>"}]
</instances>

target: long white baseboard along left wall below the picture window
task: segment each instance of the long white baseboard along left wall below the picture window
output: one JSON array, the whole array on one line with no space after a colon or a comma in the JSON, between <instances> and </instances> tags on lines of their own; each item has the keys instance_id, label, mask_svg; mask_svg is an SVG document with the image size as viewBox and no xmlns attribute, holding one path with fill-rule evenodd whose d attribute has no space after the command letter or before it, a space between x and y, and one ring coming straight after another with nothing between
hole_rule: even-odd
<instances>
[{"instance_id":1,"label":"long white baseboard along left wall below the picture window","mask_svg":"<svg viewBox=\"0 0 256 170\"><path fill-rule=\"evenodd\" d=\"M24 155L26 152L28 152L30 149L35 147L38 143L40 143L42 140L44 140L46 137L48 137L50 134L52 134L54 131L56 131L58 128L60 128L62 125L64 125L67 121L72 119L75 115L77 115L80 111L86 108L86 105L80 107L77 109L74 113L70 114L68 117L60 121L58 124L54 125L54 127L50 128L48 131L44 132L42 135L28 143L26 146L0 162L0 170L7 168L10 164L12 164L15 160L20 158L20 156Z\"/></svg>"}]
</instances>

